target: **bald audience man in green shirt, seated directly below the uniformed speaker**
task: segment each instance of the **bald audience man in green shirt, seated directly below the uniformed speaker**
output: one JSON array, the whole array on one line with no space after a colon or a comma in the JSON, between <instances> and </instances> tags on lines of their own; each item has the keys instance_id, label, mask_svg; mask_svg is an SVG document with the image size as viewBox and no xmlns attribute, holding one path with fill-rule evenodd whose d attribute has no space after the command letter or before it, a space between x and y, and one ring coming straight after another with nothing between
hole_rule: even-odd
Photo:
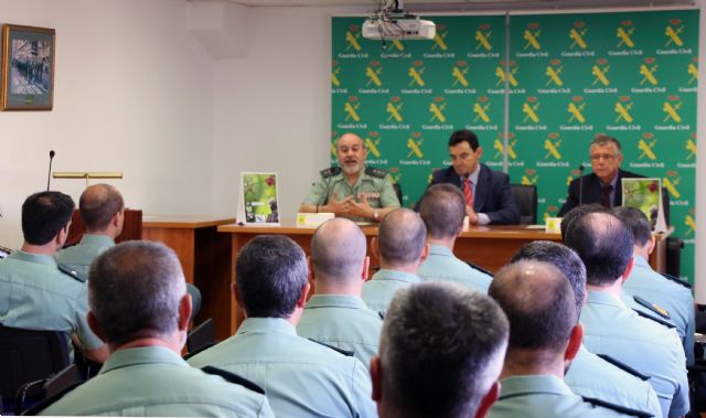
<instances>
[{"instance_id":1,"label":"bald audience man in green shirt, seated directly below the uniformed speaker","mask_svg":"<svg viewBox=\"0 0 706 418\"><path fill-rule=\"evenodd\" d=\"M353 352L366 367L377 353L383 320L361 299L370 258L365 235L344 218L323 223L311 238L312 296L297 324L299 336Z\"/></svg>"}]
</instances>

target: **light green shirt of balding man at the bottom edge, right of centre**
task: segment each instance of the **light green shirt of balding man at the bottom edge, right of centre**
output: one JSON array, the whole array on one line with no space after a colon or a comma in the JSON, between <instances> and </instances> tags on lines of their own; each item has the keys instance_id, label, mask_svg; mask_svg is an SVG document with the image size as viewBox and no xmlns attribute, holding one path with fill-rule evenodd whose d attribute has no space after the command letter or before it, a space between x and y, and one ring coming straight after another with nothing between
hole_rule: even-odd
<instances>
[{"instance_id":1,"label":"light green shirt of balding man at the bottom edge, right of centre","mask_svg":"<svg viewBox=\"0 0 706 418\"><path fill-rule=\"evenodd\" d=\"M500 397L488 418L611 418L627 417L618 411L593 406L571 393L552 375L511 376L502 379Z\"/></svg>"}]
</instances>

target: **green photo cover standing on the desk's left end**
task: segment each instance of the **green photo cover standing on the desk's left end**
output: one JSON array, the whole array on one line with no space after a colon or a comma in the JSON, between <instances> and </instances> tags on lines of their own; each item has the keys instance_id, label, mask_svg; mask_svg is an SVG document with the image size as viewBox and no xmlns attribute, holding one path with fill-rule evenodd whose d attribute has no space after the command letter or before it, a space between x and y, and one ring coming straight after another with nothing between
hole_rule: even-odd
<instances>
[{"instance_id":1,"label":"green photo cover standing on the desk's left end","mask_svg":"<svg viewBox=\"0 0 706 418\"><path fill-rule=\"evenodd\" d=\"M279 225L277 173L240 173L238 222Z\"/></svg>"}]
</instances>

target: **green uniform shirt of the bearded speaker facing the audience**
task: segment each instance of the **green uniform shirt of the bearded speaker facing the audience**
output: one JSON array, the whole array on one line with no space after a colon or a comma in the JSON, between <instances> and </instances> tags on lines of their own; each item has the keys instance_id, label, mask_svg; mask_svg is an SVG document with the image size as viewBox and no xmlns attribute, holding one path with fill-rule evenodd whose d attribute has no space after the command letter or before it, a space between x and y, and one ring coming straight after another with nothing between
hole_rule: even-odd
<instances>
[{"instance_id":1,"label":"green uniform shirt of the bearded speaker facing the audience","mask_svg":"<svg viewBox=\"0 0 706 418\"><path fill-rule=\"evenodd\" d=\"M371 207L399 207L399 201L389 175L383 178L371 175L365 169L353 185L349 183L343 172L330 176L322 174L309 191L303 204L325 205L333 194L336 195L339 201L353 195L355 202L359 203L361 202L360 195L363 194ZM351 219L355 222L370 221L364 217L353 217Z\"/></svg>"}]
</instances>

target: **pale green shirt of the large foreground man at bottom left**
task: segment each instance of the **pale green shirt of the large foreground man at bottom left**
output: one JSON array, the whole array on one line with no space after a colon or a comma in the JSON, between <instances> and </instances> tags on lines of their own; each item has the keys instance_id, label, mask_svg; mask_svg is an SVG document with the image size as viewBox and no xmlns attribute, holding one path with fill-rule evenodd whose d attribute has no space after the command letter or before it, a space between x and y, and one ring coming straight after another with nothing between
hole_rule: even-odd
<instances>
[{"instance_id":1,"label":"pale green shirt of the large foreground man at bottom left","mask_svg":"<svg viewBox=\"0 0 706 418\"><path fill-rule=\"evenodd\" d=\"M40 415L274 417L267 398L150 346L118 350L100 373Z\"/></svg>"}]
</instances>

